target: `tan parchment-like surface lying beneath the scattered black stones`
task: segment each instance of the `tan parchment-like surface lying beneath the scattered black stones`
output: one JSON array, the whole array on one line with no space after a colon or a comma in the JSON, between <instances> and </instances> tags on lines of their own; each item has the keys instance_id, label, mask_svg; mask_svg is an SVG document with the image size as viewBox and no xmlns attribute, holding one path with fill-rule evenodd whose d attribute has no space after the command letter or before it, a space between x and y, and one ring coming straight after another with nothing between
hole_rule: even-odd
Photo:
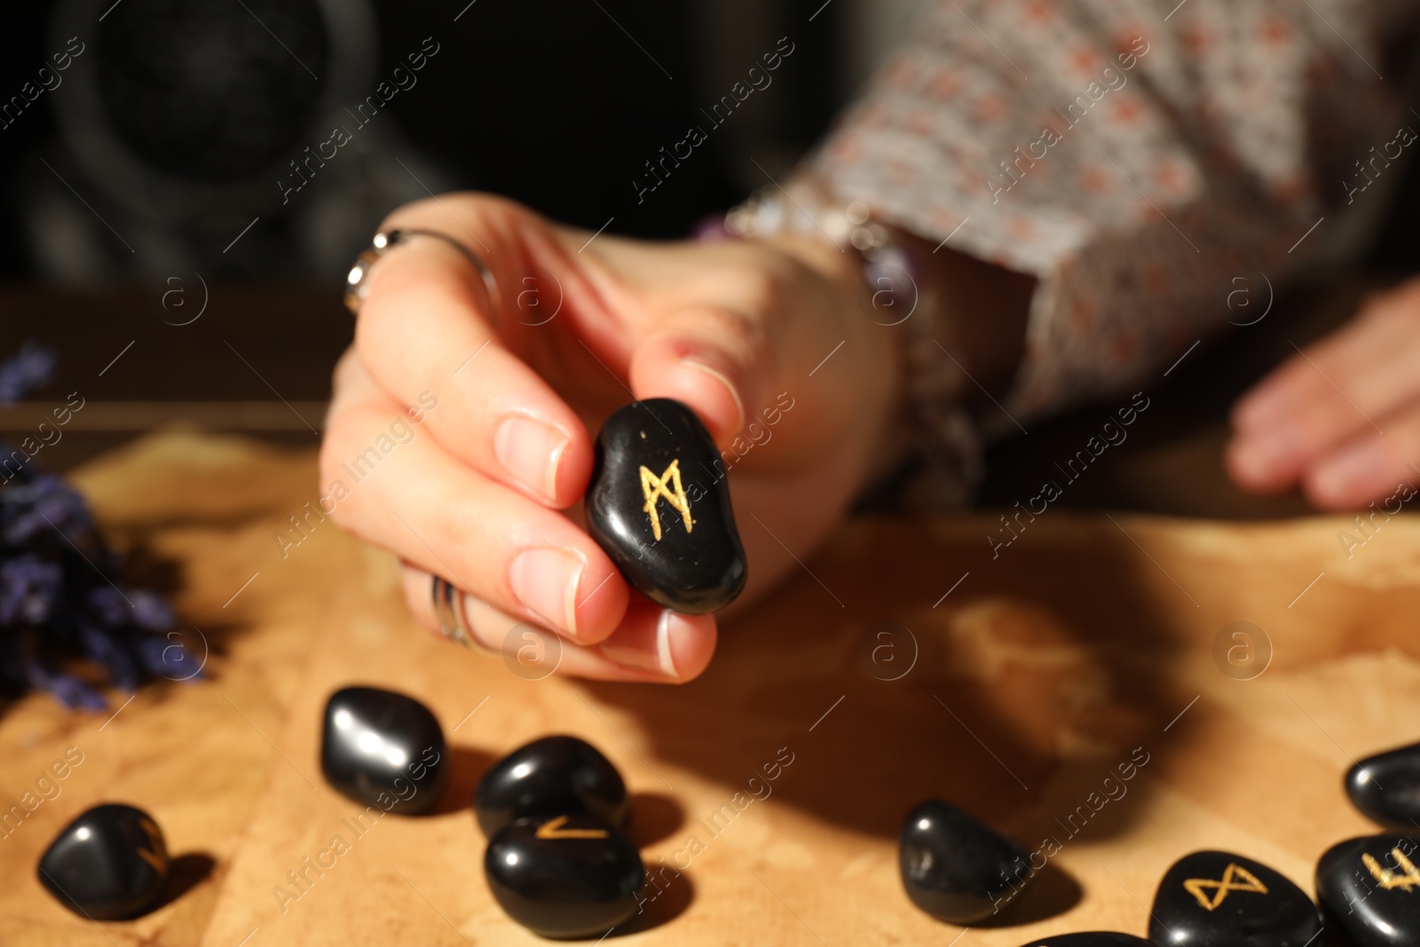
<instances>
[{"instance_id":1,"label":"tan parchment-like surface lying beneath the scattered black stones","mask_svg":"<svg viewBox=\"0 0 1420 947\"><path fill-rule=\"evenodd\" d=\"M281 491L261 483L271 491L261 508L281 508ZM298 507L301 490L293 483L285 504ZM4 860L4 943L106 943L30 872L36 839L119 791L153 809L176 852L200 846L219 866L153 916L104 924L115 943L193 943L145 940L180 917L207 947L544 943L493 903L467 804L488 760L548 733L591 740L622 770L636 797L633 835L663 879L645 916L613 938L951 943L961 930L913 909L897 877L897 828L927 797L1054 850L1027 894L994 926L961 934L961 947L1098 927L1143 934L1159 877L1200 848L1235 849L1309 890L1322 850L1370 831L1342 792L1345 768L1420 738L1420 524L1410 517L1383 522L1350 558L1336 535L1346 522L1323 518L1227 525L1049 511L995 559L994 517L856 521L727 623L711 670L674 689L524 680L498 657L415 628L393 562L334 530L317 530L290 561L274 544L233 541L266 530L270 544L271 522L254 511L247 525L173 547L193 572L230 561L240 582L261 571L237 599L247 628L230 635L213 680L135 700L99 734L124 734L112 770L87 761L45 804L51 822L26 826L30 849ZM307 581L261 584L298 557ZM197 589L206 605L185 593L185 613L220 608L236 584L219 585ZM1223 670L1238 639L1214 655L1237 620L1272 646L1251 680ZM291 640L277 646L283 632ZM293 642L311 633L302 662ZM284 686L263 697L261 673ZM349 822L362 806L321 781L321 707L355 681L415 694L443 723L454 778L433 816L383 816L356 835ZM163 716L176 701L193 708L185 727L178 711ZM60 727L72 720L98 723L24 701L0 721L0 748L28 740L28 772L62 748ZM26 781L11 771L9 794ZM84 792L80 777L92 779ZM322 852L337 835L348 850L332 863ZM329 866L321 873L307 867L318 856ZM667 863L684 867L662 873Z\"/></svg>"}]
</instances>

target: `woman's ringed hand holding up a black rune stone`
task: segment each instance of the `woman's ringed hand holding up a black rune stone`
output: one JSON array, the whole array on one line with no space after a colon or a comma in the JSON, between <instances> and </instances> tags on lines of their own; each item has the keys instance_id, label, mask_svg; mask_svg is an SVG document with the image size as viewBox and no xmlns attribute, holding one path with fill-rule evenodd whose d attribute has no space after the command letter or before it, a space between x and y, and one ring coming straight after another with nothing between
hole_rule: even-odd
<instances>
[{"instance_id":1,"label":"woman's ringed hand holding up a black rune stone","mask_svg":"<svg viewBox=\"0 0 1420 947\"><path fill-rule=\"evenodd\" d=\"M697 676L714 618L629 589L574 518L592 436L633 399L687 403L728 459L744 598L799 568L875 469L896 407L896 334L862 310L855 254L791 237L592 240L481 195L409 204L390 229L476 251L501 305L491 311L479 274L442 240L413 237L371 270L321 450L322 494L337 481L348 494L335 521L405 561L406 596L429 628L439 574L493 649L527 622L561 636L564 673ZM408 442L389 437L413 420ZM393 447L372 470L352 467L372 446Z\"/></svg>"}]
</instances>

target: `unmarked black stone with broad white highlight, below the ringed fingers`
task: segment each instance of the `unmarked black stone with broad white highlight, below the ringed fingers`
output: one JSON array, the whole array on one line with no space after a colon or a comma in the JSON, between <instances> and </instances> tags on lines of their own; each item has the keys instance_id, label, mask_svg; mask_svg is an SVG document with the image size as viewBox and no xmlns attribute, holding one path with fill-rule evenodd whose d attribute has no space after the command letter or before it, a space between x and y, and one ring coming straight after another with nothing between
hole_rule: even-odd
<instances>
[{"instance_id":1,"label":"unmarked black stone with broad white highlight, below the ringed fingers","mask_svg":"<svg viewBox=\"0 0 1420 947\"><path fill-rule=\"evenodd\" d=\"M443 730L413 697L345 687L325 704L321 772L342 795L385 812L422 815L449 781Z\"/></svg>"}]
</instances>

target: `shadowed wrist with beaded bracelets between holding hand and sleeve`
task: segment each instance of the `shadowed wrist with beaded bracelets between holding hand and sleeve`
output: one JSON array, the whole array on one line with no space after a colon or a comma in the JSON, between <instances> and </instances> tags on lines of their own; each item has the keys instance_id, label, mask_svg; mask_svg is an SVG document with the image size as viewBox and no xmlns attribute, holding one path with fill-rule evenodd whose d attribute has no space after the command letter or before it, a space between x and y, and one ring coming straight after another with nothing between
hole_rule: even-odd
<instances>
[{"instance_id":1,"label":"shadowed wrist with beaded bracelets between holding hand and sleeve","mask_svg":"<svg viewBox=\"0 0 1420 947\"><path fill-rule=\"evenodd\" d=\"M772 246L832 287L841 338L855 354L852 390L861 398L852 410L865 422L856 426L865 443L845 444L855 484L882 480L916 451L946 471L934 480L954 484L943 494L950 505L970 497L980 437L964 405L991 403L971 375L984 373L993 386L1010 383L1027 310L1018 307L1014 338L1014 321L1007 319L1003 341L990 325L983 328L990 322L983 312L991 310L981 307L1003 294L1014 311L1022 297L1011 292L1011 283L1020 277L956 253L934 254L940 244L872 220L866 203L845 202L802 177L787 190L765 189L713 230Z\"/></svg>"}]
</instances>

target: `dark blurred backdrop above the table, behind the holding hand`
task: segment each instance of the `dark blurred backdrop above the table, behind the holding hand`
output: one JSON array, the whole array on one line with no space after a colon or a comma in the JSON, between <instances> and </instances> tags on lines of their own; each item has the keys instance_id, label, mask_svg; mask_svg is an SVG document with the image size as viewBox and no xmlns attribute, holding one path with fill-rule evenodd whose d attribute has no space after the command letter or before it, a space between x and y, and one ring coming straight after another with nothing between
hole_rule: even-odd
<instances>
[{"instance_id":1,"label":"dark blurred backdrop above the table, behind the holding hand","mask_svg":"<svg viewBox=\"0 0 1420 947\"><path fill-rule=\"evenodd\" d=\"M876 23L912 3L873 6ZM463 187L504 193L591 230L612 220L611 231L683 236L697 217L765 183L755 160L777 176L819 136L886 43L849 28L866 7L17 6L0 38L0 95L18 95L0 115L0 274L71 285L160 283L195 268L219 278L338 278L388 210ZM794 54L772 85L638 203L632 179L646 177L645 162L690 125L707 126L700 108L785 35ZM54 70L53 54L67 48L82 53ZM33 102L21 94L26 82L40 89ZM375 109L359 112L358 104L381 82L389 101L371 118ZM322 146L337 125L351 141ZM290 193L278 185L307 177Z\"/></svg>"}]
</instances>

